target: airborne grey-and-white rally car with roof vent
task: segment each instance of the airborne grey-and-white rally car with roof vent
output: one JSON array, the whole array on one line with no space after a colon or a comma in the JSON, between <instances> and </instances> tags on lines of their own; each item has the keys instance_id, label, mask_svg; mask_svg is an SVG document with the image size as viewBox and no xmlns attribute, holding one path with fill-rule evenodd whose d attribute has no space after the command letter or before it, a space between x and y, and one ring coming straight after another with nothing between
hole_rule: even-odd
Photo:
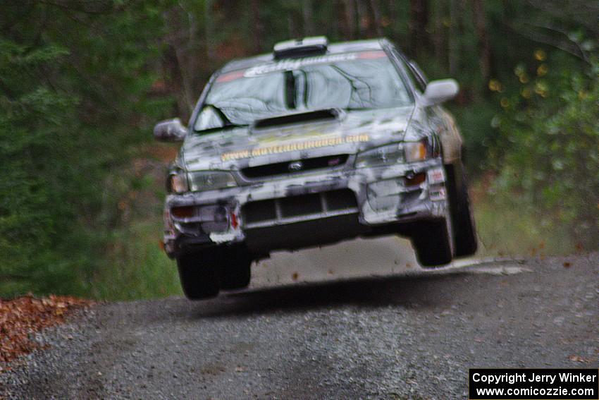
<instances>
[{"instance_id":1,"label":"airborne grey-and-white rally car with roof vent","mask_svg":"<svg viewBox=\"0 0 599 400\"><path fill-rule=\"evenodd\" d=\"M476 251L462 138L388 40L312 37L231 61L204 88L168 172L164 248L188 298L247 286L252 260L357 236L411 239L425 267Z\"/></svg>"}]
</instances>

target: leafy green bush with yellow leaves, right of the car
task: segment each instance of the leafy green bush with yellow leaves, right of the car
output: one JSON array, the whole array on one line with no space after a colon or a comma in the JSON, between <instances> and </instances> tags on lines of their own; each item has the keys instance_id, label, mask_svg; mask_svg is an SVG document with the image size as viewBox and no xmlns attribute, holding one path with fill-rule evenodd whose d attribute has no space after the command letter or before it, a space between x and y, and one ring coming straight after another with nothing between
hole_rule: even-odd
<instances>
[{"instance_id":1,"label":"leafy green bush with yellow leaves, right of the car","mask_svg":"<svg viewBox=\"0 0 599 400\"><path fill-rule=\"evenodd\" d=\"M586 73L556 68L535 52L514 69L519 85L501 96L494 123L505 156L497 181L539 219L561 223L577 243L599 246L599 63Z\"/></svg>"}]
</instances>

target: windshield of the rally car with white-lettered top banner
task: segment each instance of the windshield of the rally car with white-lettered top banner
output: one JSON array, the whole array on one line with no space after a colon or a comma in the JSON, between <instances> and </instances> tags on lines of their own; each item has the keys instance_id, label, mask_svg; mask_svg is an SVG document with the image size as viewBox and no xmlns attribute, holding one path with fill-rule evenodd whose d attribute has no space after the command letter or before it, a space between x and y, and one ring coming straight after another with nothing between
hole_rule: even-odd
<instances>
[{"instance_id":1,"label":"windshield of the rally car with white-lettered top banner","mask_svg":"<svg viewBox=\"0 0 599 400\"><path fill-rule=\"evenodd\" d=\"M302 111L409 104L412 97L384 51L281 60L218 75L194 130Z\"/></svg>"}]
</instances>

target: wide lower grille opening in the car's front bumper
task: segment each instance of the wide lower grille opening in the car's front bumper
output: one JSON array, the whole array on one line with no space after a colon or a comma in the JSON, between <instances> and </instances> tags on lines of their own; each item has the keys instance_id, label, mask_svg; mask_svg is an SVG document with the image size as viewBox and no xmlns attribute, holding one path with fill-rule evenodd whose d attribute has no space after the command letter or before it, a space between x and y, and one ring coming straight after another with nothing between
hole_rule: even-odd
<instances>
[{"instance_id":1,"label":"wide lower grille opening in the car's front bumper","mask_svg":"<svg viewBox=\"0 0 599 400\"><path fill-rule=\"evenodd\" d=\"M242 207L245 229L292 224L358 212L350 189L247 202Z\"/></svg>"}]
</instances>

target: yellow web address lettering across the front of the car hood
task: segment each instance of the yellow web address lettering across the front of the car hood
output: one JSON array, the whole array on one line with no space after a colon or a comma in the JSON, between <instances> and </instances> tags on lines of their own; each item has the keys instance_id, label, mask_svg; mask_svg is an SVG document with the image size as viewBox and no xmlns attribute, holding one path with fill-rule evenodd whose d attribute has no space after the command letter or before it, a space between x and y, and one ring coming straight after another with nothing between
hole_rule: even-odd
<instances>
[{"instance_id":1,"label":"yellow web address lettering across the front of the car hood","mask_svg":"<svg viewBox=\"0 0 599 400\"><path fill-rule=\"evenodd\" d=\"M364 133L360 135L348 135L348 136L338 136L335 138L323 138L323 139L314 139L307 140L304 142L298 143L289 143L286 145L270 145L264 147L256 147L251 150L239 150L236 152L226 152L221 154L222 161L230 161L233 159L245 159L252 157L259 157L270 154L280 154L286 152L297 152L301 150L309 150L316 149L319 147L330 147L343 145L345 143L359 143L359 142L368 142L370 140L369 135Z\"/></svg>"}]
</instances>

